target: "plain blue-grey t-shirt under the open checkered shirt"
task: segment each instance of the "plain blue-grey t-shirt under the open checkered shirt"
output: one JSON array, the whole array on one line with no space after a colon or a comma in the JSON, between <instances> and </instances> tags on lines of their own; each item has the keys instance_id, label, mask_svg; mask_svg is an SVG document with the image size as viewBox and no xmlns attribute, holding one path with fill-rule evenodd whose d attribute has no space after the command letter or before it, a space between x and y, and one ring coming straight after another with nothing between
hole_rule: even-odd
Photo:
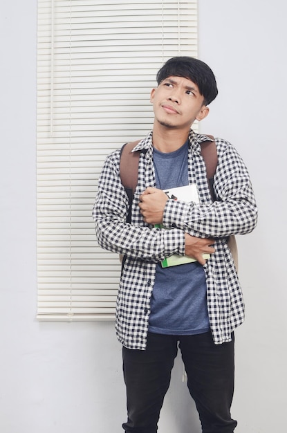
<instances>
[{"instance_id":1,"label":"plain blue-grey t-shirt under the open checkered shirt","mask_svg":"<svg viewBox=\"0 0 287 433\"><path fill-rule=\"evenodd\" d=\"M154 149L156 187L160 190L188 185L188 142L167 154ZM206 281L198 262L156 268L151 297L149 331L169 335L192 335L209 331Z\"/></svg>"}]
</instances>

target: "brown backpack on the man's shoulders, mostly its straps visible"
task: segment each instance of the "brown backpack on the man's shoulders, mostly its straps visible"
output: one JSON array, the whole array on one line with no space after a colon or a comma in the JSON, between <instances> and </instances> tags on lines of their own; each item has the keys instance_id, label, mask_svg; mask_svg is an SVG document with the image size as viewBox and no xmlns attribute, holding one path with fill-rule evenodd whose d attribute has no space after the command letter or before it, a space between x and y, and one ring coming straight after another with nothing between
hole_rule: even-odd
<instances>
[{"instance_id":1,"label":"brown backpack on the man's shoulders, mostly its straps visible","mask_svg":"<svg viewBox=\"0 0 287 433\"><path fill-rule=\"evenodd\" d=\"M216 196L213 189L213 178L218 163L216 143L213 136L207 135L210 140L201 142L201 156L205 162L206 175L212 200L215 201ZM138 161L140 159L140 150L132 152L133 147L136 147L141 140L125 143L120 151L120 181L124 185L124 190L129 198L129 210L127 214L127 222L131 222L131 203L133 194L138 184ZM232 254L235 268L238 271L238 252L237 241L234 235L228 237L228 246ZM120 257L122 257L120 255Z\"/></svg>"}]
</instances>

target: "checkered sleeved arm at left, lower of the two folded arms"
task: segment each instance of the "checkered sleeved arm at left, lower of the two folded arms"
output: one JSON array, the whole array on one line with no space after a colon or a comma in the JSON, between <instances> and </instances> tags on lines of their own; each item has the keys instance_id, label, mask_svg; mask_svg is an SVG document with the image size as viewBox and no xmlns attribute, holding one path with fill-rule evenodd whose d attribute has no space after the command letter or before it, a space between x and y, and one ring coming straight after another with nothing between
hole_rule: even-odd
<instances>
[{"instance_id":1,"label":"checkered sleeved arm at left, lower of the two folded arms","mask_svg":"<svg viewBox=\"0 0 287 433\"><path fill-rule=\"evenodd\" d=\"M147 225L136 209L136 221L127 223L128 199L119 177L119 151L105 161L98 182L93 219L98 243L104 249L150 261L185 252L182 230L161 230Z\"/></svg>"}]
</instances>

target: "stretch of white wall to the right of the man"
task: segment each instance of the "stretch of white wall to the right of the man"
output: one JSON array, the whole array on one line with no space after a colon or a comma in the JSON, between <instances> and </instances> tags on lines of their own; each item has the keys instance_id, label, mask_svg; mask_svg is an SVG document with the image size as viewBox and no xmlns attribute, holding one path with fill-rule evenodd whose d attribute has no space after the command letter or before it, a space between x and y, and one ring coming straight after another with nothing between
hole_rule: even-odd
<instances>
[{"instance_id":1,"label":"stretch of white wall to the right of the man","mask_svg":"<svg viewBox=\"0 0 287 433\"><path fill-rule=\"evenodd\" d=\"M236 145L259 206L239 237L246 323L237 332L239 433L286 431L286 38L284 1L198 1L201 57L219 98L201 129Z\"/></svg>"}]
</instances>

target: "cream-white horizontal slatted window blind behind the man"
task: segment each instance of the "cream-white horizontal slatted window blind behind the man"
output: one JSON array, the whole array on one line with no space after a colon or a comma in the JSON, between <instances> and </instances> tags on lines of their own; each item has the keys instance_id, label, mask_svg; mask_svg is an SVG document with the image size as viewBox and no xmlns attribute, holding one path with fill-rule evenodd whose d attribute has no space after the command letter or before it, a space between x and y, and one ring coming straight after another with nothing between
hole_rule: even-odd
<instances>
[{"instance_id":1,"label":"cream-white horizontal slatted window blind behind the man","mask_svg":"<svg viewBox=\"0 0 287 433\"><path fill-rule=\"evenodd\" d=\"M118 255L91 216L104 158L153 124L158 68L197 54L196 1L38 0L37 318L111 320Z\"/></svg>"}]
</instances>

